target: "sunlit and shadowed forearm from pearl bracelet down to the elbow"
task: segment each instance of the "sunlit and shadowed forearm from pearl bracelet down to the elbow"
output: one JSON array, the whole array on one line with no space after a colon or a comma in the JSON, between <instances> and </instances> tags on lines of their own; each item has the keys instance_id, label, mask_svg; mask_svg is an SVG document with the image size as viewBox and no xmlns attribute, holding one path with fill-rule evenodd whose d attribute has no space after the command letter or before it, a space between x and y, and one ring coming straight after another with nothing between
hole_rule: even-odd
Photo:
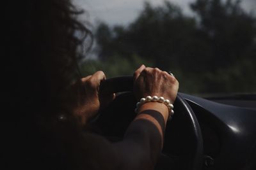
<instances>
[{"instance_id":1,"label":"sunlit and shadowed forearm from pearl bracelet down to the elbow","mask_svg":"<svg viewBox=\"0 0 256 170\"><path fill-rule=\"evenodd\" d=\"M146 103L125 132L124 140L115 144L122 169L153 169L163 146L168 108L161 103Z\"/></svg>"}]
</instances>

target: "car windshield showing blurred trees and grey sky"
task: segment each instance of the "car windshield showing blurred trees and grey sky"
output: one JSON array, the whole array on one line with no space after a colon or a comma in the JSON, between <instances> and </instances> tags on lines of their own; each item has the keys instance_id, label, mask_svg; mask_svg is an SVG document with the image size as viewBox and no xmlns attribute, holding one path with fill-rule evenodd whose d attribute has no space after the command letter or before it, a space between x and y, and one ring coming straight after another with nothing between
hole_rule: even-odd
<instances>
[{"instance_id":1,"label":"car windshield showing blurred trees and grey sky","mask_svg":"<svg viewBox=\"0 0 256 170\"><path fill-rule=\"evenodd\" d=\"M256 1L76 0L93 46L83 75L132 75L145 64L171 71L180 92L256 92Z\"/></svg>"}]
</instances>

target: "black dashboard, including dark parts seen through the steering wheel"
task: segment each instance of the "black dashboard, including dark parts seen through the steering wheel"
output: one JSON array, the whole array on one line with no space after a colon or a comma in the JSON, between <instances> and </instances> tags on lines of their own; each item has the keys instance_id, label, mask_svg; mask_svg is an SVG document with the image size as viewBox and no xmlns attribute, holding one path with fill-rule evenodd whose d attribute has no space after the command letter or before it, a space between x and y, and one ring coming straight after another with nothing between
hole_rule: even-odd
<instances>
[{"instance_id":1,"label":"black dashboard, including dark parts seen through the steering wheel","mask_svg":"<svg viewBox=\"0 0 256 170\"><path fill-rule=\"evenodd\" d=\"M255 162L256 110L254 108L231 106L188 94L180 94L180 96L186 99L200 125L204 142L203 169L236 170ZM126 108L124 113L116 114L124 108L124 104ZM102 113L102 118L99 118L99 123L104 127L103 134L122 138L125 129L136 116L131 114L134 112L135 104L136 100L131 93L117 96L106 113ZM163 170L165 167L179 169L176 167L184 162L180 155L189 154L188 128L186 120L179 114L173 115L172 122L166 125L164 154L163 159L160 159L163 161L159 161L161 165L159 169Z\"/></svg>"}]
</instances>

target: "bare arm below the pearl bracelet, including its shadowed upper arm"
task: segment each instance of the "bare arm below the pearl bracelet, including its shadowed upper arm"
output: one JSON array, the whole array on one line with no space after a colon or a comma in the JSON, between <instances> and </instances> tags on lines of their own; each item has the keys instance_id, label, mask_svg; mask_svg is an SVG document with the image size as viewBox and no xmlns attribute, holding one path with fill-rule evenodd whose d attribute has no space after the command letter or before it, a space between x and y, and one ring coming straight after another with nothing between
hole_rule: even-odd
<instances>
[{"instance_id":1,"label":"bare arm below the pearl bracelet, including its shadowed upper arm","mask_svg":"<svg viewBox=\"0 0 256 170\"><path fill-rule=\"evenodd\" d=\"M77 153L81 153L77 164L90 169L154 169L163 144L168 108L160 103L145 103L139 112L118 143L84 134L83 145L76 145Z\"/></svg>"}]
</instances>

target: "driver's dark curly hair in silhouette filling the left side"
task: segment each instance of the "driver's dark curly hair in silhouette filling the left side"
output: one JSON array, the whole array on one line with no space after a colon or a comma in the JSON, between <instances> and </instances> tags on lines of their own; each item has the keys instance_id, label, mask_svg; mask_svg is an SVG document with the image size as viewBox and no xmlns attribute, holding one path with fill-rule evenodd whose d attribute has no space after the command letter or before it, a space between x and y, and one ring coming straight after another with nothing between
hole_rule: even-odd
<instances>
[{"instance_id":1,"label":"driver's dark curly hair in silhouette filling the left side","mask_svg":"<svg viewBox=\"0 0 256 170\"><path fill-rule=\"evenodd\" d=\"M71 123L63 125L57 117L72 117L72 104L77 100L77 89L72 88L72 83L80 78L77 63L84 50L90 48L92 33L79 22L77 16L83 11L77 10L70 0L2 4L6 158L26 164L33 154L44 155L50 148L57 150L47 143L65 143L63 136L68 134L66 143L77 138L76 128L70 128L76 127L76 121L69 118ZM56 155L57 151L53 153ZM55 157L53 153L46 155ZM36 160L42 161L42 156Z\"/></svg>"}]
</instances>

